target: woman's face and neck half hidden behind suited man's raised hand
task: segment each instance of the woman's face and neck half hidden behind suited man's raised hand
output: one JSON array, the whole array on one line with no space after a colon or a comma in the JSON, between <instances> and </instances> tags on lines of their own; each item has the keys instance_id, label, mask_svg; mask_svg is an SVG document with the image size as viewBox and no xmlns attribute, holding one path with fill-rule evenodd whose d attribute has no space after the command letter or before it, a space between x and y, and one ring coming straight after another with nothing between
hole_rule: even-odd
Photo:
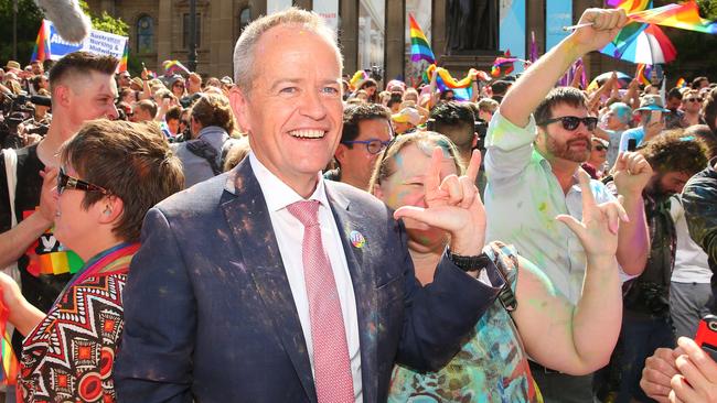
<instances>
[{"instance_id":1,"label":"woman's face and neck half hidden behind suited man's raised hand","mask_svg":"<svg viewBox=\"0 0 717 403\"><path fill-rule=\"evenodd\" d=\"M402 206L426 206L424 183L426 172L430 166L430 155L435 144L429 141L411 142L405 145L393 157L393 173L376 185L374 193L392 209ZM440 179L451 174L458 174L456 162L450 153L443 152ZM429 227L425 224L405 218L408 232L408 248L424 252L440 249L446 246L446 231Z\"/></svg>"}]
</instances>

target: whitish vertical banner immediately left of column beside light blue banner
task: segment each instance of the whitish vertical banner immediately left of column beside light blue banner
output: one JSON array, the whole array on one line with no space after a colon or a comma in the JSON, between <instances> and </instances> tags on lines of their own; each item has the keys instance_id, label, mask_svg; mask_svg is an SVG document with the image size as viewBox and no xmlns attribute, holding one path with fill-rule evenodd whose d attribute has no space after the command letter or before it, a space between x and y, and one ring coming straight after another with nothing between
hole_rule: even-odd
<instances>
[{"instance_id":1,"label":"whitish vertical banner immediately left of column beside light blue banner","mask_svg":"<svg viewBox=\"0 0 717 403\"><path fill-rule=\"evenodd\" d=\"M386 0L358 1L358 68L384 68Z\"/></svg>"}]
</instances>

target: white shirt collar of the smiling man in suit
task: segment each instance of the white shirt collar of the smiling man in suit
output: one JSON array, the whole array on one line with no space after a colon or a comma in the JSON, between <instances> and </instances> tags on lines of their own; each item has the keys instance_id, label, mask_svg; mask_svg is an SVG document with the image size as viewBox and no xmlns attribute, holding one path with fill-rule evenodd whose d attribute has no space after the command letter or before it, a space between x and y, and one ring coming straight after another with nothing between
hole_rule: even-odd
<instances>
[{"instance_id":1,"label":"white shirt collar of the smiling man in suit","mask_svg":"<svg viewBox=\"0 0 717 403\"><path fill-rule=\"evenodd\" d=\"M269 211L279 211L293 203L307 200L264 166L254 152L249 152L249 164L259 182ZM317 188L308 200L318 200L324 207L329 207L325 185L320 172L317 172Z\"/></svg>"}]
</instances>

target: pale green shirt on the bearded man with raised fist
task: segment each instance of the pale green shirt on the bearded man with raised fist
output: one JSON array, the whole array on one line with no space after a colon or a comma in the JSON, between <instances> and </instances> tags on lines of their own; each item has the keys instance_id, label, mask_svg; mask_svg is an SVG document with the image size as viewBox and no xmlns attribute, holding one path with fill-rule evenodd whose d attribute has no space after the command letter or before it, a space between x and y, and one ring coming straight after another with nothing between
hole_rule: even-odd
<instances>
[{"instance_id":1,"label":"pale green shirt on the bearded man with raised fist","mask_svg":"<svg viewBox=\"0 0 717 403\"><path fill-rule=\"evenodd\" d=\"M567 195L553 174L550 163L533 146L535 119L520 128L496 112L485 139L485 241L512 243L518 253L548 276L557 292L577 304L585 277L586 255L578 238L560 214L582 218L577 175ZM577 171L576 171L577 174ZM614 196L599 181L590 187L598 204Z\"/></svg>"}]
</instances>

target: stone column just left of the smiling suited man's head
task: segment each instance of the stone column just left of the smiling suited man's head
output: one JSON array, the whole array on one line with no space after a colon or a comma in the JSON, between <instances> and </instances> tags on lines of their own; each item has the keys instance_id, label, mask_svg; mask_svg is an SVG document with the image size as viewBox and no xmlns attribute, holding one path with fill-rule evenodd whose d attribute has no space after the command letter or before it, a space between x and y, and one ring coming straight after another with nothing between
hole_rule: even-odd
<instances>
[{"instance_id":1,"label":"stone column just left of the smiling suited man's head","mask_svg":"<svg viewBox=\"0 0 717 403\"><path fill-rule=\"evenodd\" d=\"M208 18L204 21L207 22L208 41L204 42L205 47L208 47L210 59L202 59L200 72L208 73L215 77L229 76L232 77L233 70L233 51L234 51L234 10L231 1L213 1L207 4ZM210 23L211 21L211 23ZM237 22L238 23L238 22ZM206 57L205 56L205 57Z\"/></svg>"}]
</instances>

